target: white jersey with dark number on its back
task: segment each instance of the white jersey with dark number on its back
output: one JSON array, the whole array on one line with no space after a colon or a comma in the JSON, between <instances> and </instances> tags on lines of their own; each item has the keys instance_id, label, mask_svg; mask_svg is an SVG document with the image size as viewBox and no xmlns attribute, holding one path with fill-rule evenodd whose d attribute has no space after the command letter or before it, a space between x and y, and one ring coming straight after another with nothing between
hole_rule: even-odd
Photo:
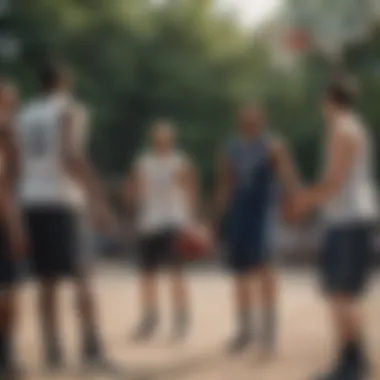
<instances>
[{"instance_id":1,"label":"white jersey with dark number on its back","mask_svg":"<svg viewBox=\"0 0 380 380\"><path fill-rule=\"evenodd\" d=\"M66 95L41 97L26 105L18 116L19 189L24 204L73 204L61 154L61 120L71 104Z\"/></svg>"}]
</instances>

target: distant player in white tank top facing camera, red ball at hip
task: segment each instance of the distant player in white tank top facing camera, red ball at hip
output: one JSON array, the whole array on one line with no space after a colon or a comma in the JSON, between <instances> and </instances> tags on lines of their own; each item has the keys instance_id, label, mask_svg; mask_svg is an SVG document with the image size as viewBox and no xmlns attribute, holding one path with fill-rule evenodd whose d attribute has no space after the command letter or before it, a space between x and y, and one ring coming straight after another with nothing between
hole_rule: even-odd
<instances>
[{"instance_id":1,"label":"distant player in white tank top facing camera, red ball at hip","mask_svg":"<svg viewBox=\"0 0 380 380\"><path fill-rule=\"evenodd\" d=\"M192 217L195 174L176 149L174 130L166 121L150 131L148 149L137 159L129 194L138 206L139 264L143 313L134 338L145 340L158 325L157 270L170 270L174 303L174 338L184 338L189 324L189 300L180 256L173 249L177 233ZM130 198L131 199L131 198Z\"/></svg>"}]
</instances>

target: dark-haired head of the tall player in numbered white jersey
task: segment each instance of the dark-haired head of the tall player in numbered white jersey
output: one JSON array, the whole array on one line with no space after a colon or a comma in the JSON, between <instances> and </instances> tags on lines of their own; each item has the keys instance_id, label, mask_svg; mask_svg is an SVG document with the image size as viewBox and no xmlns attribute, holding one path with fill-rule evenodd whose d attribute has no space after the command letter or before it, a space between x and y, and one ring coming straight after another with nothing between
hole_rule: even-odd
<instances>
[{"instance_id":1,"label":"dark-haired head of the tall player in numbered white jersey","mask_svg":"<svg viewBox=\"0 0 380 380\"><path fill-rule=\"evenodd\" d=\"M45 93L68 91L70 89L68 69L60 64L45 64L40 70L39 80Z\"/></svg>"}]
</instances>

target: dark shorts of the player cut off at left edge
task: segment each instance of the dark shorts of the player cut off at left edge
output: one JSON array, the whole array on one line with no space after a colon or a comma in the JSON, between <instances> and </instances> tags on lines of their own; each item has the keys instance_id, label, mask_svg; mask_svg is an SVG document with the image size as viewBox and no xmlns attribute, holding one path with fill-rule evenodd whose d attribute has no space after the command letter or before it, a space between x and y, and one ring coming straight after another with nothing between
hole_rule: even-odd
<instances>
[{"instance_id":1,"label":"dark shorts of the player cut off at left edge","mask_svg":"<svg viewBox=\"0 0 380 380\"><path fill-rule=\"evenodd\" d=\"M8 289L19 277L19 263L13 259L7 230L0 227L0 290Z\"/></svg>"}]
</instances>

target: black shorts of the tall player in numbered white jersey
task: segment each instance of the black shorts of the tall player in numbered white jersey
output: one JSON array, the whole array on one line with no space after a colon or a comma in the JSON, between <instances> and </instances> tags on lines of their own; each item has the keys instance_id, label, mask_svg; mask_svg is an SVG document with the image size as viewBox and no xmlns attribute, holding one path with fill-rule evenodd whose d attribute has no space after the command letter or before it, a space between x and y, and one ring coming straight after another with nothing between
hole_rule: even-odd
<instances>
[{"instance_id":1,"label":"black shorts of the tall player in numbered white jersey","mask_svg":"<svg viewBox=\"0 0 380 380\"><path fill-rule=\"evenodd\" d=\"M25 210L28 256L32 273L57 279L79 273L78 214L65 206L35 206Z\"/></svg>"}]
</instances>

